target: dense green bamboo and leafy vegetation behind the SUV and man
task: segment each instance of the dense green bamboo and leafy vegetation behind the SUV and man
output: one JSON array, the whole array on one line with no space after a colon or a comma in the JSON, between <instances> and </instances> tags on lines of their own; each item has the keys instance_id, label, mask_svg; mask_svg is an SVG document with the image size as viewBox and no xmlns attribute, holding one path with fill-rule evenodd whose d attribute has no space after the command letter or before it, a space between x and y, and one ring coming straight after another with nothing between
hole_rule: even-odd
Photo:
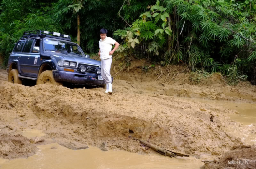
<instances>
[{"instance_id":1,"label":"dense green bamboo and leafy vegetation behind the SUV and man","mask_svg":"<svg viewBox=\"0 0 256 169\"><path fill-rule=\"evenodd\" d=\"M231 84L256 81L254 0L2 0L0 23L5 65L24 31L66 33L94 53L104 27L121 44L119 60L184 63L194 72L221 72Z\"/></svg>"}]
</instances>

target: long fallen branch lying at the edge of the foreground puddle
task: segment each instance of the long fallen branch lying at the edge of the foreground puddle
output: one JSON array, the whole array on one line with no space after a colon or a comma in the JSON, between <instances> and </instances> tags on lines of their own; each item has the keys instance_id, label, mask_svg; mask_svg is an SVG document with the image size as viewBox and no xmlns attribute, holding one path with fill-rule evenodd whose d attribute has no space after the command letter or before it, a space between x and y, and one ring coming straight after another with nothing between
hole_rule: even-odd
<instances>
[{"instance_id":1,"label":"long fallen branch lying at the edge of the foreground puddle","mask_svg":"<svg viewBox=\"0 0 256 169\"><path fill-rule=\"evenodd\" d=\"M157 147L153 144L150 144L148 142L145 142L144 140L140 140L138 139L144 146L147 146L149 148L151 148L152 150L162 154L162 155L165 155L165 156L169 156L169 157L176 157L176 156L181 156L181 157L189 157L189 155L187 154L182 154L182 153L178 153L178 152L174 152L174 151L171 151L171 150L167 150L165 148L160 148L160 147Z\"/></svg>"}]
</instances>

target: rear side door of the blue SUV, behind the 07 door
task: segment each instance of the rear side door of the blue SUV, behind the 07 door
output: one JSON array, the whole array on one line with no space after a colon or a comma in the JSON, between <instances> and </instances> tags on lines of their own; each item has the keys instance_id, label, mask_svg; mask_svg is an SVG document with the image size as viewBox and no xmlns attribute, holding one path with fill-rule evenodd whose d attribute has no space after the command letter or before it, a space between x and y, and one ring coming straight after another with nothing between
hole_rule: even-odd
<instances>
[{"instance_id":1,"label":"rear side door of the blue SUV, behind the 07 door","mask_svg":"<svg viewBox=\"0 0 256 169\"><path fill-rule=\"evenodd\" d=\"M14 56L19 61L19 69L21 74L24 74L26 71L26 58L22 55L23 46L26 40L20 40L17 42L16 46L13 49L11 56Z\"/></svg>"}]
</instances>

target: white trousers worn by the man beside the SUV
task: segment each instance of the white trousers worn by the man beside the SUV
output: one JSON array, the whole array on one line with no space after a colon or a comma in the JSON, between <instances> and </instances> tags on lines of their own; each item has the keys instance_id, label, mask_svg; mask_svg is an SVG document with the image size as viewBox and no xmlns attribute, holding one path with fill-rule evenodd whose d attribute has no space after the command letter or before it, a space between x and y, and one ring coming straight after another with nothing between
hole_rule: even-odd
<instances>
[{"instance_id":1,"label":"white trousers worn by the man beside the SUV","mask_svg":"<svg viewBox=\"0 0 256 169\"><path fill-rule=\"evenodd\" d=\"M112 58L101 60L101 76L104 79L106 84L112 82L112 78L110 75L110 68L112 64Z\"/></svg>"}]
</instances>

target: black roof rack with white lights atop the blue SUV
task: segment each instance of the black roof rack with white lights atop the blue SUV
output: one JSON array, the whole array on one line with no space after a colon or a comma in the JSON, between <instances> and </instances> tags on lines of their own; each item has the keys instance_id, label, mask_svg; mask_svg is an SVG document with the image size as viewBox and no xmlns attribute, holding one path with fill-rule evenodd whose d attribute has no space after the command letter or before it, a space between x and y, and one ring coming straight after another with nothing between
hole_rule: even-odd
<instances>
[{"instance_id":1,"label":"black roof rack with white lights atop the blue SUV","mask_svg":"<svg viewBox=\"0 0 256 169\"><path fill-rule=\"evenodd\" d=\"M52 34L52 35L49 35L49 34ZM64 34L61 35L58 32L48 32L48 31L41 31L41 30L24 32L22 39L27 39L30 37L41 37L41 38L51 37L51 38L58 38L58 39L62 39L62 40L71 41L71 38L69 35L64 35Z\"/></svg>"}]
</instances>

